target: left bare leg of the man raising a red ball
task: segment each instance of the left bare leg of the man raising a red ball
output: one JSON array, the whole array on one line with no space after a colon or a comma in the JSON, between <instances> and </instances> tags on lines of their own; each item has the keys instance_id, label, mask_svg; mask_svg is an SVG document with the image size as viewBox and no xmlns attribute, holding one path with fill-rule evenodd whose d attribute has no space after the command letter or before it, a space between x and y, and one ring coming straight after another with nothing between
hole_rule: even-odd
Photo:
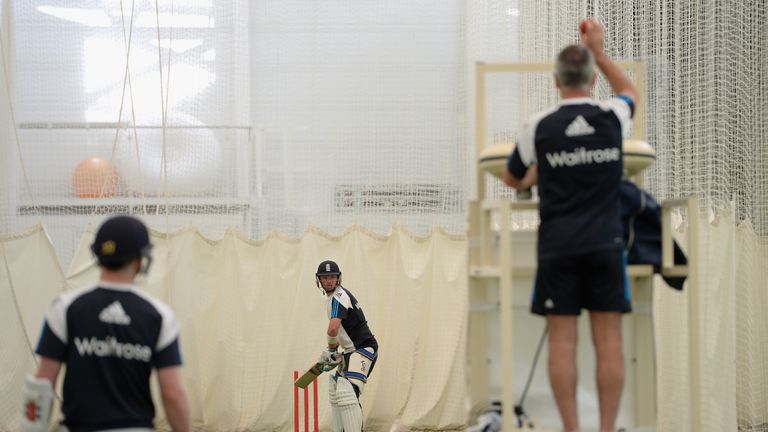
<instances>
[{"instance_id":1,"label":"left bare leg of the man raising a red ball","mask_svg":"<svg viewBox=\"0 0 768 432\"><path fill-rule=\"evenodd\" d=\"M579 430L576 405L576 315L547 315L549 326L549 384L555 395L557 409L565 432Z\"/></svg>"}]
</instances>

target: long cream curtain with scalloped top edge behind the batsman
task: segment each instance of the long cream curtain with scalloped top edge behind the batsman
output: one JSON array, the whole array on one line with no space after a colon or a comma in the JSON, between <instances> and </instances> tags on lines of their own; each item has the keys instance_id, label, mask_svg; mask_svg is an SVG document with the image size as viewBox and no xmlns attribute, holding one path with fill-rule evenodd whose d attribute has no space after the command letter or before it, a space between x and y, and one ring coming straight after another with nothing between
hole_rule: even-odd
<instances>
[{"instance_id":1,"label":"long cream curtain with scalloped top edge behind the batsman","mask_svg":"<svg viewBox=\"0 0 768 432\"><path fill-rule=\"evenodd\" d=\"M463 237L434 230L417 238L398 227L387 236L353 227L339 237L309 230L300 239L273 235L258 242L234 231L219 241L195 230L152 236L154 262L142 286L176 312L199 429L293 428L293 371L303 372L325 346L324 297L314 278L324 259L341 266L343 285L360 301L380 344L363 398L366 428L463 429L468 314ZM92 238L93 230L87 230L67 274L68 288L98 278L88 248ZM42 228L3 246L4 256L18 257L9 260L12 274L19 275L12 278L13 292L21 297L20 315L34 343L45 307L63 284L55 253ZM8 280L5 297L12 292ZM10 300L2 304L14 313ZM32 356L21 326L3 326L3 332L9 333L4 347L13 341L25 348L6 350L4 357L18 354L17 366L4 359L0 374L13 377L4 388L20 390L21 372L34 369ZM320 427L328 430L325 376L319 394ZM10 410L3 419L14 419L17 404L3 408ZM162 418L158 423L165 426Z\"/></svg>"}]
</instances>

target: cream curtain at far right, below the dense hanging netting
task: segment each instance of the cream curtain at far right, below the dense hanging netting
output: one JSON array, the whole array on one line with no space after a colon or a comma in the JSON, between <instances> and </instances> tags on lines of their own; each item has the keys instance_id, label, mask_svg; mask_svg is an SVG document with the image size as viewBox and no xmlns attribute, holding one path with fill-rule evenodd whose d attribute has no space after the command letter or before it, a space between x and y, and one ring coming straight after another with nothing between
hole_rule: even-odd
<instances>
[{"instance_id":1,"label":"cream curtain at far right, below the dense hanging netting","mask_svg":"<svg viewBox=\"0 0 768 432\"><path fill-rule=\"evenodd\" d=\"M749 223L737 224L728 215L700 216L698 239L699 286L654 291L658 430L694 432L693 379L702 394L702 431L765 430L768 245ZM697 322L688 314L693 289L700 299ZM692 325L700 335L696 353L689 349ZM691 376L691 356L700 364L700 377Z\"/></svg>"}]
</instances>

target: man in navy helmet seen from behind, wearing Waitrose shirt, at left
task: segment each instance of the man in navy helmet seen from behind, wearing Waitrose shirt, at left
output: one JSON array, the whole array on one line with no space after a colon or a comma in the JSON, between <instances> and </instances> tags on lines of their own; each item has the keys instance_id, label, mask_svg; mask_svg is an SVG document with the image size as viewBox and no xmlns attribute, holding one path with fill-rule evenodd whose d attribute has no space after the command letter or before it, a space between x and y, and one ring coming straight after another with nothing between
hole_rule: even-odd
<instances>
[{"instance_id":1,"label":"man in navy helmet seen from behind, wearing Waitrose shirt, at left","mask_svg":"<svg viewBox=\"0 0 768 432\"><path fill-rule=\"evenodd\" d=\"M98 285L58 296L45 316L39 367L24 389L23 431L48 431L65 363L61 410L69 431L154 430L152 369L171 428L190 430L176 318L134 285L149 268L151 247L146 226L134 217L112 217L99 228L91 246Z\"/></svg>"}]
</instances>

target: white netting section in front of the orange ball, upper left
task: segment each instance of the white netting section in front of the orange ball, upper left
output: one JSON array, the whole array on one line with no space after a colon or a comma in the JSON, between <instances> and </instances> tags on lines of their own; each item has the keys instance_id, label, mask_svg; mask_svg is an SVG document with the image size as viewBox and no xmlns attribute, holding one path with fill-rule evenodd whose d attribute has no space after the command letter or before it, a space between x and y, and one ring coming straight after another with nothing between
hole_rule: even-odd
<instances>
[{"instance_id":1,"label":"white netting section in front of the orange ball, upper left","mask_svg":"<svg viewBox=\"0 0 768 432\"><path fill-rule=\"evenodd\" d=\"M8 229L45 223L65 266L104 214L157 215L159 229L213 237L247 230L248 10L14 3L4 32L17 133L2 154Z\"/></svg>"}]
</instances>

